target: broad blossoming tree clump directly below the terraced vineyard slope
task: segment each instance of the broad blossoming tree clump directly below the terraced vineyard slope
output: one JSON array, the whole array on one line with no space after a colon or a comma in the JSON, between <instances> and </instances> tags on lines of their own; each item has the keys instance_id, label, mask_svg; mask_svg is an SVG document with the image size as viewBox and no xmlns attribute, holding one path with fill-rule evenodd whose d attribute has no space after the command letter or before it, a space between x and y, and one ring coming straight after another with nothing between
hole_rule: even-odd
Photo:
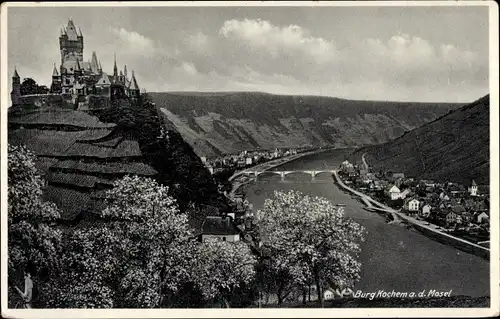
<instances>
[{"instance_id":1,"label":"broad blossoming tree clump directly below the terraced vineyard slope","mask_svg":"<svg viewBox=\"0 0 500 319\"><path fill-rule=\"evenodd\" d=\"M63 307L160 307L190 278L187 216L167 187L137 176L116 181L105 206L104 223L70 236L63 288L52 294Z\"/></svg>"}]
</instances>

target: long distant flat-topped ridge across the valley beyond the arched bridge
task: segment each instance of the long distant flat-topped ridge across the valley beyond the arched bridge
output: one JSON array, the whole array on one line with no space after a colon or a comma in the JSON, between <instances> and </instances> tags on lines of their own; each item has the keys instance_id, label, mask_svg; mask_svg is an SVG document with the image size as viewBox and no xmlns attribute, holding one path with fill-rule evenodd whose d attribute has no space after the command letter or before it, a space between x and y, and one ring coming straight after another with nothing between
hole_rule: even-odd
<instances>
[{"instance_id":1,"label":"long distant flat-topped ridge across the valley beyond the arched bridge","mask_svg":"<svg viewBox=\"0 0 500 319\"><path fill-rule=\"evenodd\" d=\"M257 148L380 144L461 106L260 92L149 94L200 156Z\"/></svg>"}]
</instances>

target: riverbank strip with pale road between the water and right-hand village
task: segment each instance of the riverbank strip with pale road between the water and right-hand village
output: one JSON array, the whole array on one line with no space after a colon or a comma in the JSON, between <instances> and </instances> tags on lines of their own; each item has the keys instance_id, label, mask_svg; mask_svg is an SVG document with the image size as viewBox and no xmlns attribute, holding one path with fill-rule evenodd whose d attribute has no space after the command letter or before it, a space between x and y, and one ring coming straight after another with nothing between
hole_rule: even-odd
<instances>
[{"instance_id":1,"label":"riverbank strip with pale road between the water and right-hand village","mask_svg":"<svg viewBox=\"0 0 500 319\"><path fill-rule=\"evenodd\" d=\"M407 216L407 215L405 215L405 214L403 214L403 213L401 213L399 211L391 209L391 208L389 208L389 207L387 207L387 206L385 206L385 205L377 202L376 200L372 199L368 195L363 194L361 192L358 192L358 191L356 191L356 190L348 187L347 185L345 185L344 182L338 176L337 172L334 172L334 177L335 177L336 182L342 188L348 190L349 192L351 192L351 193L353 193L353 194L355 194L357 196L360 196L360 197L364 198L365 202L368 201L368 202L370 202L372 204L376 204L377 206L379 206L383 210L390 212L394 216L397 216L397 218L399 220L402 220L402 221L406 222L407 224L411 225L415 230L419 231L423 235L426 235L427 237L432 238L432 239L434 239L436 241L439 241L441 243L449 244L449 245L451 245L451 246L453 246L453 247L455 247L457 249L460 249L462 251L465 251L465 252L468 252L468 253L472 253L472 254L474 254L476 256L479 256L479 257L482 257L484 259L489 260L489 258L490 258L490 250L488 248L485 248L485 247L482 247L480 245L471 243L469 241L466 241L464 239L452 236L450 234L441 232L441 231L439 231L439 230L437 230L435 228L432 228L432 227L430 227L428 225L425 225L424 222L422 222L420 220L417 220L417 219L415 219L413 217ZM368 207L368 208L374 209L373 207Z\"/></svg>"}]
</instances>

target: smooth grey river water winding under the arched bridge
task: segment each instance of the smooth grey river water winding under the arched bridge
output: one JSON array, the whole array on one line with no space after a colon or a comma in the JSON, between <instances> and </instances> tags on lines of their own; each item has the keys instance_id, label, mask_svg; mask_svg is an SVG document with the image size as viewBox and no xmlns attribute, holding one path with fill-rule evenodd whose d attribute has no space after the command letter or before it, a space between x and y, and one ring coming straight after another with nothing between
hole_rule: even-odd
<instances>
[{"instance_id":1,"label":"smooth grey river water winding under the arched bridge","mask_svg":"<svg viewBox=\"0 0 500 319\"><path fill-rule=\"evenodd\" d=\"M348 154L333 150L300 158L274 170L336 169ZM321 173L316 181L305 173L286 175L285 181L277 174L263 173L256 182L242 189L254 210L262 207L274 190L298 190L312 196L344 203L345 214L367 230L360 254L361 280L353 290L362 292L385 291L420 292L436 290L451 295L472 297L490 296L489 262L452 246L434 241L402 225L388 224L377 213L363 209L363 204L341 191L331 174Z\"/></svg>"}]
</instances>

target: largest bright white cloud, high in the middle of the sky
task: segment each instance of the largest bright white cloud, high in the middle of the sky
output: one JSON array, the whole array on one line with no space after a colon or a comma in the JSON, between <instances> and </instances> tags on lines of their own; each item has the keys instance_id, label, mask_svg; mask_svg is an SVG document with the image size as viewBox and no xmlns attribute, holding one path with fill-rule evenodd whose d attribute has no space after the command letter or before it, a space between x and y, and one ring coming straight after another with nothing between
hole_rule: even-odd
<instances>
[{"instance_id":1,"label":"largest bright white cloud, high in the middle of the sky","mask_svg":"<svg viewBox=\"0 0 500 319\"><path fill-rule=\"evenodd\" d=\"M306 29L297 25L279 27L261 19L229 20L219 33L225 38L246 42L252 49L265 51L274 59L292 51L323 63L335 54L333 42L309 36Z\"/></svg>"}]
</instances>

